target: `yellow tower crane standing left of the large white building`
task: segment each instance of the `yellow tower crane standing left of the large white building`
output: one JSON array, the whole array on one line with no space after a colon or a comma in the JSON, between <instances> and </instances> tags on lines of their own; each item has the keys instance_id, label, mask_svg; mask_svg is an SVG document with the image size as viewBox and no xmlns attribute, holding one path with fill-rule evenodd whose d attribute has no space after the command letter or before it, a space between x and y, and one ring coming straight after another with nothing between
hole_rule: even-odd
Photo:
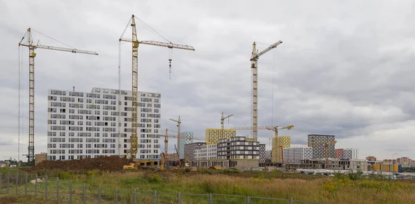
<instances>
[{"instance_id":1,"label":"yellow tower crane standing left of the large white building","mask_svg":"<svg viewBox=\"0 0 415 204\"><path fill-rule=\"evenodd\" d=\"M35 45L33 43L32 30L28 28L24 36L19 42L19 46L26 46L29 48L29 145L28 145L28 165L35 165L35 49L46 49L46 50L56 50L64 51L70 53L80 53L88 55L98 55L98 53L89 50L78 50L75 48L61 48L55 46L45 46L39 44ZM36 30L34 30L36 31ZM39 33L39 32L38 32ZM27 42L23 40L27 38Z\"/></svg>"}]
</instances>

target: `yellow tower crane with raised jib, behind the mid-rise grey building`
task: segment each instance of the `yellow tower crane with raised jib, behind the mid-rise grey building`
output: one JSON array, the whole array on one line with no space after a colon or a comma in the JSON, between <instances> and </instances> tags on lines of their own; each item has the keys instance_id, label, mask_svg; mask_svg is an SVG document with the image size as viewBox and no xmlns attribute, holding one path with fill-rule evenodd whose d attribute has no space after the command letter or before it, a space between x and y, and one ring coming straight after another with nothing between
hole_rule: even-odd
<instances>
[{"instance_id":1,"label":"yellow tower crane with raised jib, behind the mid-rise grey building","mask_svg":"<svg viewBox=\"0 0 415 204\"><path fill-rule=\"evenodd\" d=\"M282 44L282 41L277 41L265 50L258 53L257 44L252 44L252 57L250 58L252 68L252 138L256 141L258 138L258 59L261 55L268 53L269 50L276 48Z\"/></svg>"}]
</instances>

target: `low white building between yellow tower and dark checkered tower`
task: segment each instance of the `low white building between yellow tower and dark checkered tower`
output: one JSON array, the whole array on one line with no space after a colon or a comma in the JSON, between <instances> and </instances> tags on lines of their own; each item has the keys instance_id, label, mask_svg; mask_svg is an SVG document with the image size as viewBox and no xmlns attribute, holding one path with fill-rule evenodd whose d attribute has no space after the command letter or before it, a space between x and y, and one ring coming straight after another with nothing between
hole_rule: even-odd
<instances>
[{"instance_id":1,"label":"low white building between yellow tower and dark checkered tower","mask_svg":"<svg viewBox=\"0 0 415 204\"><path fill-rule=\"evenodd\" d=\"M287 147L283 153L284 163L299 163L300 160L313 158L313 147Z\"/></svg>"}]
</instances>

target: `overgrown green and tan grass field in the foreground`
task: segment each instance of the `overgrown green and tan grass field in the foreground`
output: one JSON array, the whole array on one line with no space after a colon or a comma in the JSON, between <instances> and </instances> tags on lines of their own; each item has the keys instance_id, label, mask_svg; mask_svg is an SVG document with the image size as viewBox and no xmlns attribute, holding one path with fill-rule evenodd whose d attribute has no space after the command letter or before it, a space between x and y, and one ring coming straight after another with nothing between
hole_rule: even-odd
<instances>
[{"instance_id":1,"label":"overgrown green and tan grass field in the foreground","mask_svg":"<svg viewBox=\"0 0 415 204\"><path fill-rule=\"evenodd\" d=\"M73 181L73 203L82 202L83 183L88 188L87 201L98 198L98 186L102 187L102 203L114 203L115 187L137 189L142 201L153 198L154 191L182 194L230 194L242 196L262 196L290 198L321 203L415 203L415 184L407 180L386 180L365 178L356 174L338 174L333 177L302 175L297 173L240 172L204 169L201 171L44 171L48 174L48 197L56 198L56 178L59 177L59 197L68 200L68 180ZM20 173L21 174L21 173ZM31 178L30 178L31 179ZM29 180L30 180L29 179ZM4 180L3 180L4 182ZM15 180L12 180L12 183ZM19 181L21 184L21 180ZM14 184L14 183L13 183ZM38 197L44 197L45 183L37 187ZM10 187L15 193L15 185ZM33 194L34 185L28 185ZM4 191L4 185L3 185ZM17 191L24 193L24 184ZM140 192L151 191L151 192ZM132 201L133 191L120 191L118 197L123 202ZM175 203L176 194L159 194L162 203ZM216 200L219 196L215 197ZM239 200L238 200L239 199ZM207 203L206 196L183 196L183 203ZM233 202L232 202L233 201ZM223 198L221 203L241 203L244 198ZM216 202L215 202L216 203ZM257 201L256 203L264 203Z\"/></svg>"}]
</instances>

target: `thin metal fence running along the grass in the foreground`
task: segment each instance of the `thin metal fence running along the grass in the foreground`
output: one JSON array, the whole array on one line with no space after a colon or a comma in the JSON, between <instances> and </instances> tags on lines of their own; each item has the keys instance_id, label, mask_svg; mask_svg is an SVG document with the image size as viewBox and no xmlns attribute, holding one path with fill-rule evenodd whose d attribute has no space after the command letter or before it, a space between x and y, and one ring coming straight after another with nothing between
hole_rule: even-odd
<instances>
[{"instance_id":1,"label":"thin metal fence running along the grass in the foreground","mask_svg":"<svg viewBox=\"0 0 415 204\"><path fill-rule=\"evenodd\" d=\"M325 204L297 201L293 198L265 198L224 194L183 194L181 192L157 192L118 187L90 186L59 180L57 177L37 174L0 174L0 194L24 194L55 200L57 203L178 203L178 204Z\"/></svg>"}]
</instances>

